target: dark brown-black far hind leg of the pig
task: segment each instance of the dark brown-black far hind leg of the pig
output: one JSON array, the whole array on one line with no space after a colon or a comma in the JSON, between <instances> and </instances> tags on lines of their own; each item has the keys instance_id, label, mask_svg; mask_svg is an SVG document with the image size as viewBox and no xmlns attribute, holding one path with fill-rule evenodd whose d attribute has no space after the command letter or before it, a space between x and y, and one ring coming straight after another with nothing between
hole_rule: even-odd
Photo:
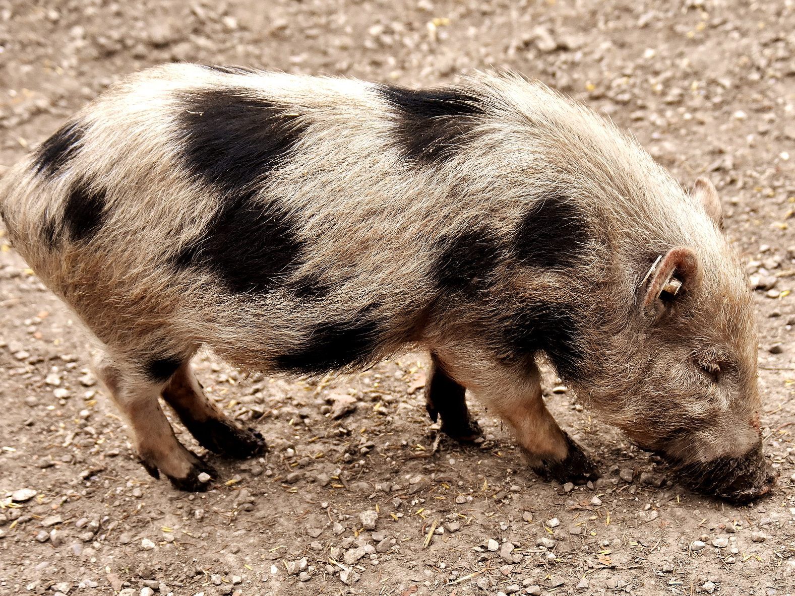
<instances>
[{"instance_id":1,"label":"dark brown-black far hind leg of the pig","mask_svg":"<svg viewBox=\"0 0 795 596\"><path fill-rule=\"evenodd\" d=\"M267 451L262 435L239 428L207 399L188 360L163 389L163 399L205 449L230 459L246 459Z\"/></svg>"}]
</instances>

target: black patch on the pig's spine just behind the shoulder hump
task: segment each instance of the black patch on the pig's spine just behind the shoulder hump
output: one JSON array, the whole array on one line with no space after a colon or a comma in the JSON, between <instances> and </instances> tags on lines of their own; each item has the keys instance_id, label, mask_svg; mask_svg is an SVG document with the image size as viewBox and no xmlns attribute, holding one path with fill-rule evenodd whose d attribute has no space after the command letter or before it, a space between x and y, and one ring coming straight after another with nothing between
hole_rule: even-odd
<instances>
[{"instance_id":1,"label":"black patch on the pig's spine just behind the shoulder hump","mask_svg":"<svg viewBox=\"0 0 795 596\"><path fill-rule=\"evenodd\" d=\"M426 163L444 161L471 137L483 102L454 89L418 90L379 87L399 116L395 133L406 157Z\"/></svg>"}]
</instances>

